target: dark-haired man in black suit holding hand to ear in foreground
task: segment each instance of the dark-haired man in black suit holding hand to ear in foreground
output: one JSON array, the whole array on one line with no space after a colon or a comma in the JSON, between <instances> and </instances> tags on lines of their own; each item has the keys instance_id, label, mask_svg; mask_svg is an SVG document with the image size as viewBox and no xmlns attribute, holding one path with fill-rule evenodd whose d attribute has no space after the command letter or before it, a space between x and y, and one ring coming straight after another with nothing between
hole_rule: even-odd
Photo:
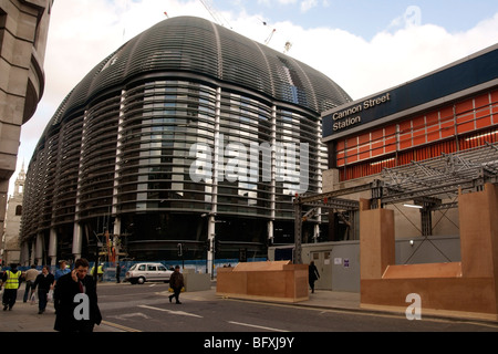
<instances>
[{"instance_id":1,"label":"dark-haired man in black suit holding hand to ear in foreground","mask_svg":"<svg viewBox=\"0 0 498 354\"><path fill-rule=\"evenodd\" d=\"M54 330L61 332L93 332L101 324L95 280L89 274L89 261L76 259L72 272L55 283Z\"/></svg>"}]
</instances>

